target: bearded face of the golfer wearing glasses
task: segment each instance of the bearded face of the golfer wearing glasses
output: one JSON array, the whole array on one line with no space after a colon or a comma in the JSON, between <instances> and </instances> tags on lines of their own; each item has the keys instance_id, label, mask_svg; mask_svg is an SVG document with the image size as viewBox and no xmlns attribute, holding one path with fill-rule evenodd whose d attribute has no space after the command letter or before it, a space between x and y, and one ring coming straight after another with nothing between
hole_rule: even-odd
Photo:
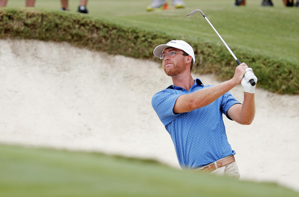
<instances>
[{"instance_id":1,"label":"bearded face of the golfer wearing glasses","mask_svg":"<svg viewBox=\"0 0 299 197\"><path fill-rule=\"evenodd\" d=\"M179 53L173 56L169 56L168 53L172 51L176 51ZM186 69L186 56L181 53L183 53L183 51L178 48L169 47L164 49L163 54L166 54L166 57L163 58L162 65L166 75L176 76L178 74L181 74Z\"/></svg>"}]
</instances>

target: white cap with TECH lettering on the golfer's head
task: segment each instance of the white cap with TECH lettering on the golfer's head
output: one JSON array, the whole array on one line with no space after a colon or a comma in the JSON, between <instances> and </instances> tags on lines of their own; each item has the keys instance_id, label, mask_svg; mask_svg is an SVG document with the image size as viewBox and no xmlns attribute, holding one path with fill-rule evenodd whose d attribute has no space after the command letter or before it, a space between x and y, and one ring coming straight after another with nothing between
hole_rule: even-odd
<instances>
[{"instance_id":1,"label":"white cap with TECH lettering on the golfer's head","mask_svg":"<svg viewBox=\"0 0 299 197\"><path fill-rule=\"evenodd\" d=\"M154 49L154 56L160 57L160 55L163 53L165 48L173 47L178 48L186 52L188 55L192 56L193 63L195 62L195 56L193 48L190 46L190 44L186 43L183 40L171 40L166 44L160 44Z\"/></svg>"}]
</instances>

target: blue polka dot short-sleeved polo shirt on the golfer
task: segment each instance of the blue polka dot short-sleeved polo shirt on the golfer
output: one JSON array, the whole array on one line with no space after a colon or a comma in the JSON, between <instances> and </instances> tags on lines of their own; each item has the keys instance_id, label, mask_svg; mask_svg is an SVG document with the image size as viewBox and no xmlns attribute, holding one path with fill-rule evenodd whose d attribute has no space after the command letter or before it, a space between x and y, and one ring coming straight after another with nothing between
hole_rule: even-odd
<instances>
[{"instance_id":1,"label":"blue polka dot short-sleeved polo shirt on the golfer","mask_svg":"<svg viewBox=\"0 0 299 197\"><path fill-rule=\"evenodd\" d=\"M227 141L222 119L222 113L226 115L232 105L239 103L230 92L226 92L205 107L191 112L173 113L174 103L180 95L207 87L211 85L203 85L196 79L189 91L171 85L152 98L152 106L171 136L182 168L202 167L235 154Z\"/></svg>"}]
</instances>

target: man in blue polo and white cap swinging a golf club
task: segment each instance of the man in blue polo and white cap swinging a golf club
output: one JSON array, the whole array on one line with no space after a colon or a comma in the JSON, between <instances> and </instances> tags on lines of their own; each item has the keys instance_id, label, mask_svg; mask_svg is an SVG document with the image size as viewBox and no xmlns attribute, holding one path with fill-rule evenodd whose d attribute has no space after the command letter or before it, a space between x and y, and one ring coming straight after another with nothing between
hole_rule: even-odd
<instances>
[{"instance_id":1,"label":"man in blue polo and white cap swinging a golf club","mask_svg":"<svg viewBox=\"0 0 299 197\"><path fill-rule=\"evenodd\" d=\"M183 169L240 177L235 151L228 143L222 114L249 125L254 119L255 86L251 68L245 63L234 77L218 85L204 85L191 76L195 62L193 48L183 40L172 40L154 49L173 85L152 98L152 106L171 136L178 162ZM243 104L229 92L238 84L244 89Z\"/></svg>"}]
</instances>

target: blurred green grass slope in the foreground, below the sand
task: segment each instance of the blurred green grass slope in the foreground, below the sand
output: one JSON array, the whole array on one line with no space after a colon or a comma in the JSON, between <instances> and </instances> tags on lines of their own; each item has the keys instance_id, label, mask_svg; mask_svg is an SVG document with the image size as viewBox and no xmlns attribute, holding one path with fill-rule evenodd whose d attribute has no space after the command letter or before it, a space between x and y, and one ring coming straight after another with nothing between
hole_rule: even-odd
<instances>
[{"instance_id":1,"label":"blurred green grass slope in the foreground, below the sand","mask_svg":"<svg viewBox=\"0 0 299 197\"><path fill-rule=\"evenodd\" d=\"M0 144L0 196L299 196L147 160Z\"/></svg>"}]
</instances>

